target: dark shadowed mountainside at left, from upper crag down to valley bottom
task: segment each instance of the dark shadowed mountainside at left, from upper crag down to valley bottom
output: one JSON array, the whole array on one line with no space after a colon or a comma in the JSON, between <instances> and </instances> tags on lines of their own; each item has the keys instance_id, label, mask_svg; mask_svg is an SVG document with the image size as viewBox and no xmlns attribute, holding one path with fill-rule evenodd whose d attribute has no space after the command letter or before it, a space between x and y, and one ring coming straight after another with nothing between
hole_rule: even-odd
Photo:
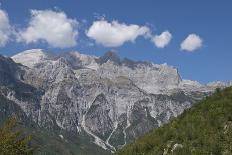
<instances>
[{"instance_id":1,"label":"dark shadowed mountainside at left, from upper crag down to valley bottom","mask_svg":"<svg viewBox=\"0 0 232 155\"><path fill-rule=\"evenodd\" d=\"M42 92L22 81L24 68L12 59L0 56L0 125L10 116L17 116L19 129L32 135L32 147L39 148L36 155L109 154L92 144L92 137L87 134L77 135L58 127L49 130L35 123L32 113L40 108L37 103Z\"/></svg>"}]
</instances>

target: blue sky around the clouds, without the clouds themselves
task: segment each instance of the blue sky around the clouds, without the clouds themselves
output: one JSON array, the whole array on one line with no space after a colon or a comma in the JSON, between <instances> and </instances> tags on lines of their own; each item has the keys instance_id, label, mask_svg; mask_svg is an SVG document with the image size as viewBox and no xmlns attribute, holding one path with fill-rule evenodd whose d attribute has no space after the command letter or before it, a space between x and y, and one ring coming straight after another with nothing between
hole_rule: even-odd
<instances>
[{"instance_id":1,"label":"blue sky around the clouds, without the clouds themselves","mask_svg":"<svg viewBox=\"0 0 232 155\"><path fill-rule=\"evenodd\" d=\"M66 15L67 21L76 22L76 27L73 27L71 32L78 33L75 36L75 45L69 44L72 46L62 48L52 44L60 43L56 42L57 40L48 43L46 39L37 37L37 41L32 43L32 36L28 38L24 35L24 40L21 41L16 41L13 39L15 36L11 36L11 39L0 47L0 54L11 56L26 49L43 48L57 53L76 50L100 56L114 49L120 57L176 66L184 79L202 83L232 80L231 0L49 0L46 2L0 0L0 2L1 10L8 14L9 24L16 33L25 33L30 26L29 23L32 21L30 10L36 10L35 14L41 13L38 12L39 10L62 12ZM113 44L106 46L106 42L102 42L104 38L99 38L106 32L95 33L96 28L92 27L93 33L89 33L89 36L86 34L96 21L105 21L105 24L116 21L120 26L123 24L127 26L126 28L132 28L130 26L134 24L139 29L148 28L149 32L145 30L146 32L141 32L135 38L133 35L128 39L122 36L127 33L123 31L121 35L119 34L119 38L124 39L124 41L119 40L121 45L111 42ZM172 37L163 48L157 47L151 40L165 31L168 31ZM202 43L195 50L181 50L181 43L190 34L197 35ZM104 41L109 41L112 38L105 39Z\"/></svg>"}]
</instances>

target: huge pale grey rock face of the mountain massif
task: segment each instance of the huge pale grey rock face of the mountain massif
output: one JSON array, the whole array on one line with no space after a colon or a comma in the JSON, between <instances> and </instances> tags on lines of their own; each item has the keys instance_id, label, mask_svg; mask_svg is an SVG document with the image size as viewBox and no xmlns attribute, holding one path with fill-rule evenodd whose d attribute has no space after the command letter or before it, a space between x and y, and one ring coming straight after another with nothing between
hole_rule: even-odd
<instances>
[{"instance_id":1,"label":"huge pale grey rock face of the mountain massif","mask_svg":"<svg viewBox=\"0 0 232 155\"><path fill-rule=\"evenodd\" d=\"M182 80L172 66L121 60L113 52L55 56L34 49L12 59L0 57L1 91L8 99L40 127L85 132L112 152L216 87Z\"/></svg>"}]
</instances>

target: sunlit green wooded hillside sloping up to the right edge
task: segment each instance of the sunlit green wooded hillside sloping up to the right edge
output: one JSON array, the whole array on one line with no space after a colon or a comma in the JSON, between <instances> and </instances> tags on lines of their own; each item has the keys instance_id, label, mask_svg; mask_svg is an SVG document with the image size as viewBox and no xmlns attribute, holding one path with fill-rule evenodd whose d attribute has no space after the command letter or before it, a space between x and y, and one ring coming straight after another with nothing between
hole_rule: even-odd
<instances>
[{"instance_id":1,"label":"sunlit green wooded hillside sloping up to the right edge","mask_svg":"<svg viewBox=\"0 0 232 155\"><path fill-rule=\"evenodd\" d=\"M231 155L232 87L216 92L117 155Z\"/></svg>"}]
</instances>

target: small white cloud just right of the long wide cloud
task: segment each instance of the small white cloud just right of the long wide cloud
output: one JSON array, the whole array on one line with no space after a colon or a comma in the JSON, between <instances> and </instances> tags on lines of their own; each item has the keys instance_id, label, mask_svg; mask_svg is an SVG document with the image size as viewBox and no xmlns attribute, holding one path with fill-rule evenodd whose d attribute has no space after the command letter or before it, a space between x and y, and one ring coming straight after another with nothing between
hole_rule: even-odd
<instances>
[{"instance_id":1,"label":"small white cloud just right of the long wide cloud","mask_svg":"<svg viewBox=\"0 0 232 155\"><path fill-rule=\"evenodd\" d=\"M151 41L158 48L164 48L167 46L172 39L172 34L169 31L164 31L160 35L155 35L151 37Z\"/></svg>"}]
</instances>

